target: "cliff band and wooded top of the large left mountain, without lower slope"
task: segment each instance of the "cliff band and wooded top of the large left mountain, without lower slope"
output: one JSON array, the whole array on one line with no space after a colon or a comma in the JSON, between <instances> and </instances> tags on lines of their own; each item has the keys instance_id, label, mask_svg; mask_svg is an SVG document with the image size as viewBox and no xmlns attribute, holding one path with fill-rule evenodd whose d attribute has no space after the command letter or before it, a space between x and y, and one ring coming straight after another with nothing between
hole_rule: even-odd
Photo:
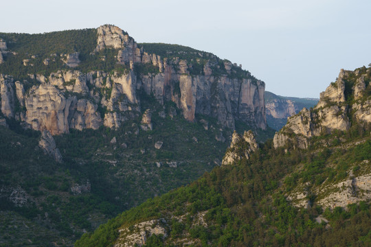
<instances>
[{"instance_id":1,"label":"cliff band and wooded top of the large left mountain, without lower slope","mask_svg":"<svg viewBox=\"0 0 371 247\"><path fill-rule=\"evenodd\" d=\"M140 92L174 102L188 121L199 114L231 129L235 121L267 127L265 83L213 54L137 44L113 25L0 37L1 112L25 128L117 129L146 110Z\"/></svg>"}]
</instances>

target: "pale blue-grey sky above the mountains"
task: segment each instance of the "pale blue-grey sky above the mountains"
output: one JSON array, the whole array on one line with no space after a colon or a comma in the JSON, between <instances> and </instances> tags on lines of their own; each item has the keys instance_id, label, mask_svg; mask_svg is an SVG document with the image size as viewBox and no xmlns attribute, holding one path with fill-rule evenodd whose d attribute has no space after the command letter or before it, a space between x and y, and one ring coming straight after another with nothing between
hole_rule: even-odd
<instances>
[{"instance_id":1,"label":"pale blue-grey sky above the mountains","mask_svg":"<svg viewBox=\"0 0 371 247\"><path fill-rule=\"evenodd\" d=\"M318 98L340 69L371 63L370 0L13 0L1 10L0 32L113 24L138 43L212 52L283 96Z\"/></svg>"}]
</instances>

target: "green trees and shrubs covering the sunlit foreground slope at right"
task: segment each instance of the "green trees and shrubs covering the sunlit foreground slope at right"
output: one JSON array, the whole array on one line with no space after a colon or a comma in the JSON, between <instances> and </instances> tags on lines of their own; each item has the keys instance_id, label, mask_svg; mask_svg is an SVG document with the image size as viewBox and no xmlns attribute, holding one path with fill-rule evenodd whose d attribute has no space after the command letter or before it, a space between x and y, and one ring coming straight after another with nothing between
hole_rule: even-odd
<instances>
[{"instance_id":1,"label":"green trees and shrubs covering the sunlit foreground slope at right","mask_svg":"<svg viewBox=\"0 0 371 247\"><path fill-rule=\"evenodd\" d=\"M111 246L119 228L130 229L137 222L159 218L167 222L168 237L153 236L146 246L177 246L182 239L191 246L369 246L369 202L324 210L309 193L309 206L296 208L285 193L298 182L318 186L328 172L333 173L331 181L344 179L349 169L364 172L368 165L359 161L371 159L370 130L370 126L357 126L342 133L348 136L342 145L306 152L285 153L267 141L249 160L216 167L191 185L147 200L95 233L83 235L76 246ZM314 140L314 147L324 140L331 138ZM352 144L356 140L364 142ZM329 171L335 161L339 165ZM199 213L205 213L206 224L197 223Z\"/></svg>"}]
</instances>

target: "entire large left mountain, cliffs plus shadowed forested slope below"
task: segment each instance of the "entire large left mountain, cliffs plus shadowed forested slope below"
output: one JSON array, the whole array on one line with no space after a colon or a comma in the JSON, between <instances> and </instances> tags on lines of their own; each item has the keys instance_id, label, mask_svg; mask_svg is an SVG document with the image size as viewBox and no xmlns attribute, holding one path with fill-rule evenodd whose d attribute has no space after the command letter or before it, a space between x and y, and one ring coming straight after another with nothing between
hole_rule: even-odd
<instances>
[{"instance_id":1,"label":"entire large left mountain, cliffs plus shadowed forested slope below","mask_svg":"<svg viewBox=\"0 0 371 247\"><path fill-rule=\"evenodd\" d=\"M221 165L233 130L273 137L265 83L205 51L113 25L0 38L0 246L72 246Z\"/></svg>"}]
</instances>

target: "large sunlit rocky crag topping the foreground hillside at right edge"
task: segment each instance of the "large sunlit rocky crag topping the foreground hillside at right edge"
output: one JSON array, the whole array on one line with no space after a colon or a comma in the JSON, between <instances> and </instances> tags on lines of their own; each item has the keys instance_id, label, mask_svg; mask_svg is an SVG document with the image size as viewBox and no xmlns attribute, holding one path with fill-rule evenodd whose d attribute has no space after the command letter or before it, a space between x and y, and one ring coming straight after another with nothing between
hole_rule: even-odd
<instances>
[{"instance_id":1,"label":"large sunlit rocky crag topping the foreground hillside at right edge","mask_svg":"<svg viewBox=\"0 0 371 247\"><path fill-rule=\"evenodd\" d=\"M335 129L348 130L350 116L356 121L370 123L370 85L366 87L364 80L370 78L370 75L371 69L365 67L356 71L342 69L337 81L320 94L319 102L313 110L304 108L297 115L290 117L280 132L276 132L273 138L274 147L291 144L306 149L311 137L330 133Z\"/></svg>"}]
</instances>

